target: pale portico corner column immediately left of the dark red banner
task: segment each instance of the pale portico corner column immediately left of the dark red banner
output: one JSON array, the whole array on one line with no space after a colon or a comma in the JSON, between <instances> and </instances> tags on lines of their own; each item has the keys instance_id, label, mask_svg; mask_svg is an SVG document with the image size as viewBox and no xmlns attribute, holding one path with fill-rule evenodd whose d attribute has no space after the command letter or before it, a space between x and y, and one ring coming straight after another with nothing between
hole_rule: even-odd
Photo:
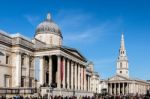
<instances>
[{"instance_id":1,"label":"pale portico corner column immediately left of the dark red banner","mask_svg":"<svg viewBox=\"0 0 150 99\"><path fill-rule=\"evenodd\" d=\"M61 57L57 56L57 88L60 89L60 66L61 66Z\"/></svg>"}]
</instances>

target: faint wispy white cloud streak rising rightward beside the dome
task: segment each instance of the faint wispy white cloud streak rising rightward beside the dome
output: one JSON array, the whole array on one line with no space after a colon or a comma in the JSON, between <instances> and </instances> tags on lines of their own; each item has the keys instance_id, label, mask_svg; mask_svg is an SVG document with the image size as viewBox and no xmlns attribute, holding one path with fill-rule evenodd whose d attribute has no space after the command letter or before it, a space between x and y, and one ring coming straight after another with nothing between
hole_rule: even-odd
<instances>
[{"instance_id":1,"label":"faint wispy white cloud streak rising rightward beside the dome","mask_svg":"<svg viewBox=\"0 0 150 99\"><path fill-rule=\"evenodd\" d=\"M86 27L86 29L81 31L77 30L74 33L73 32L65 33L64 40L65 42L72 41L79 43L95 42L98 39L100 39L103 35L105 35L107 32L109 32L107 29L109 25L110 25L109 22L104 22L97 26Z\"/></svg>"}]
</instances>

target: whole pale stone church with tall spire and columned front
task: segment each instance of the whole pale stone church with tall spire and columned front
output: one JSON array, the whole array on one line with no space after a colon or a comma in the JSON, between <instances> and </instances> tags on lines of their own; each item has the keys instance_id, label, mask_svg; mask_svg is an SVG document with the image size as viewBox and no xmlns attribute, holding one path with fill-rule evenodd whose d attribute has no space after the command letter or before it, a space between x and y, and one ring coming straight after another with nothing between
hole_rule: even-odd
<instances>
[{"instance_id":1,"label":"whole pale stone church with tall spire and columned front","mask_svg":"<svg viewBox=\"0 0 150 99\"><path fill-rule=\"evenodd\" d=\"M146 94L150 83L129 75L128 58L125 48L124 35L121 37L119 57L117 59L116 75L108 79L108 93L110 95L136 95Z\"/></svg>"}]
</instances>

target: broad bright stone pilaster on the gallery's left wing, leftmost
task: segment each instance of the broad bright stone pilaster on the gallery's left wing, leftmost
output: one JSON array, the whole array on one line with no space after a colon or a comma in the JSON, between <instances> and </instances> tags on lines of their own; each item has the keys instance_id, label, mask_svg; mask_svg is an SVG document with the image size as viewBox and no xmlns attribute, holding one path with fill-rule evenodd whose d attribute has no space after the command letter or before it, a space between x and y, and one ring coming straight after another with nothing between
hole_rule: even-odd
<instances>
[{"instance_id":1,"label":"broad bright stone pilaster on the gallery's left wing, leftmost","mask_svg":"<svg viewBox=\"0 0 150 99\"><path fill-rule=\"evenodd\" d=\"M21 86L21 54L20 52L16 53L16 87Z\"/></svg>"}]
</instances>

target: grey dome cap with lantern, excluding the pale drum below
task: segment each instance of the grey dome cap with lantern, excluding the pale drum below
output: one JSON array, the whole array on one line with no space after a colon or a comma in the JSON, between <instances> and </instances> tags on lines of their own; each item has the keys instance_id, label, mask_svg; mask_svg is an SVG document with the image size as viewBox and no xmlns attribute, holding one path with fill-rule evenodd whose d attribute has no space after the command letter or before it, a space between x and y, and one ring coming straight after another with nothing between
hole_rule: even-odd
<instances>
[{"instance_id":1,"label":"grey dome cap with lantern, excluding the pale drum below","mask_svg":"<svg viewBox=\"0 0 150 99\"><path fill-rule=\"evenodd\" d=\"M58 25L52 21L50 13L47 14L46 20L41 22L36 28L36 35L48 33L53 33L62 37L61 31Z\"/></svg>"}]
</instances>

